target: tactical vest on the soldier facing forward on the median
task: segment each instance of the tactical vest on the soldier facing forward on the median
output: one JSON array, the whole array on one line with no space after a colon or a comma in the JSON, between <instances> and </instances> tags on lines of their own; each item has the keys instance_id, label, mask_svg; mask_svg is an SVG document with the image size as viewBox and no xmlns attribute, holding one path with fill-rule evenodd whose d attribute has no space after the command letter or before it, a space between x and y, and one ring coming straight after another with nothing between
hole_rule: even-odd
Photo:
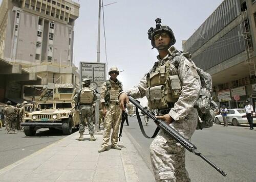
<instances>
[{"instance_id":1,"label":"tactical vest on the soldier facing forward on the median","mask_svg":"<svg viewBox=\"0 0 256 182\"><path fill-rule=\"evenodd\" d=\"M118 95L122 91L122 84L118 81L117 84L106 81L106 94L105 94L105 106L109 106L111 100L118 100Z\"/></svg>"}]
</instances>

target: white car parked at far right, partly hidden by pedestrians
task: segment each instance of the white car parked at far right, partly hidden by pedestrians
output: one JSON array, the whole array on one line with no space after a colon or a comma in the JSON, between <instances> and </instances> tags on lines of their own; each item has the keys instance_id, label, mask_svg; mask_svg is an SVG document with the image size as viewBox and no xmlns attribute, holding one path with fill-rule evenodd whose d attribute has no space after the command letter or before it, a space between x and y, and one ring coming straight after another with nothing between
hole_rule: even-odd
<instances>
[{"instance_id":1,"label":"white car parked at far right, partly hidden by pedestrians","mask_svg":"<svg viewBox=\"0 0 256 182\"><path fill-rule=\"evenodd\" d=\"M216 115L214 118L216 124L221 124L223 122L222 115ZM227 110L227 122L233 124L234 126L239 126L240 124L247 124L247 117L244 109L228 109ZM253 123L256 123L255 113L253 113Z\"/></svg>"}]
</instances>

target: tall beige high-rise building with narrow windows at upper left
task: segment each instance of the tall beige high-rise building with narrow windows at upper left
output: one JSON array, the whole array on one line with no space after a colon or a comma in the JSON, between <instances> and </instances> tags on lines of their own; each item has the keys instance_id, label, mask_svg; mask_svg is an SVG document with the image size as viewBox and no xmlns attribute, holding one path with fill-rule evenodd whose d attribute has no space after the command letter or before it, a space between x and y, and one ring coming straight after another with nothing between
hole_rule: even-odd
<instances>
[{"instance_id":1,"label":"tall beige high-rise building with narrow windows at upper left","mask_svg":"<svg viewBox=\"0 0 256 182\"><path fill-rule=\"evenodd\" d=\"M22 65L32 77L42 77L50 90L55 83L79 87L79 73L72 59L79 8L71 0L3 0L0 58Z\"/></svg>"}]
</instances>

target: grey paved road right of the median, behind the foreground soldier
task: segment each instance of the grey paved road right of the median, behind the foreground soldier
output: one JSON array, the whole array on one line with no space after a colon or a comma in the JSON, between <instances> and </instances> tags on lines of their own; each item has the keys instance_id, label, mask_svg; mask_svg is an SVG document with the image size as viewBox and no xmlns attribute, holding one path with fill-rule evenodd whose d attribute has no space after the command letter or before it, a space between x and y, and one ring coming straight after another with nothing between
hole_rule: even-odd
<instances>
[{"instance_id":1,"label":"grey paved road right of the median, behind the foreground soldier","mask_svg":"<svg viewBox=\"0 0 256 182\"><path fill-rule=\"evenodd\" d=\"M130 126L124 126L124 132L151 168L148 147L152 139L143 137L136 117L129 117L129 123ZM156 125L151 120L144 128L150 136ZM211 128L196 131L191 142L203 155L227 173L227 176L223 177L200 157L186 151L186 166L191 181L256 181L256 130L250 131L248 125L223 127L214 124Z\"/></svg>"}]
</instances>

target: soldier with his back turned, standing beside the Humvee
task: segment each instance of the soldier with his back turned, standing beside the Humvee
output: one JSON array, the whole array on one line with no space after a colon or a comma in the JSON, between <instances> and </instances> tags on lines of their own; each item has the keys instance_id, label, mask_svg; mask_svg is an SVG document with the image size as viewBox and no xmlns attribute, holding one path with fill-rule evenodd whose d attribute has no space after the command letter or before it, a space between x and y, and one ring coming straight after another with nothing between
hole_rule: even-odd
<instances>
[{"instance_id":1,"label":"soldier with his back turned, standing beside the Humvee","mask_svg":"<svg viewBox=\"0 0 256 182\"><path fill-rule=\"evenodd\" d=\"M79 134L80 137L77 139L83 141L84 133L84 119L87 119L89 134L91 135L90 141L95 141L94 138L94 126L93 126L93 102L97 100L96 92L90 88L91 81L89 79L82 80L82 89L80 89L74 96L76 104L79 106Z\"/></svg>"}]
</instances>

